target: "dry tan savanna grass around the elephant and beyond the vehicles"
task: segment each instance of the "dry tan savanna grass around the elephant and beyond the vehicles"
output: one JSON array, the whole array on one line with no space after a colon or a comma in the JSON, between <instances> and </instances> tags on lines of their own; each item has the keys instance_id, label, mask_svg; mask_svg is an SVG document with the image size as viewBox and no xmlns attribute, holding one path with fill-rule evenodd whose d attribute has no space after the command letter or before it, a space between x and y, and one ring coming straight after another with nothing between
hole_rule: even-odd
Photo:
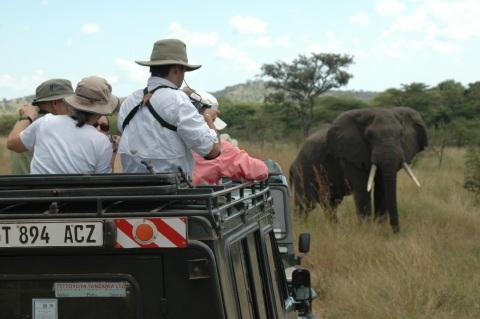
<instances>
[{"instance_id":1,"label":"dry tan savanna grass around the elephant and beyond the vehicles","mask_svg":"<svg viewBox=\"0 0 480 319\"><path fill-rule=\"evenodd\" d=\"M0 139L0 171L9 154ZM243 143L285 172L296 145ZM442 167L424 152L414 166L418 189L398 174L401 232L388 223L360 223L351 197L332 225L320 209L294 216L295 237L312 235L303 265L312 270L319 318L410 319L480 317L480 203L463 189L464 151L449 149Z\"/></svg>"}]
</instances>

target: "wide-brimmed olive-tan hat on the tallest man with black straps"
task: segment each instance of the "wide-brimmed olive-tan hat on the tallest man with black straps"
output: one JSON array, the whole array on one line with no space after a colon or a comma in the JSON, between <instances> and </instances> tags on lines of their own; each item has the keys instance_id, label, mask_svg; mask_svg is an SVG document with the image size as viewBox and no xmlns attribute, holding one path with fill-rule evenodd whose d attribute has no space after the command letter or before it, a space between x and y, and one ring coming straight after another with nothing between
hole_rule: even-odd
<instances>
[{"instance_id":1,"label":"wide-brimmed olive-tan hat on the tallest man with black straps","mask_svg":"<svg viewBox=\"0 0 480 319\"><path fill-rule=\"evenodd\" d=\"M201 65L188 64L187 46L178 39L159 40L153 44L150 61L135 61L144 66L179 64L193 71Z\"/></svg>"}]
</instances>

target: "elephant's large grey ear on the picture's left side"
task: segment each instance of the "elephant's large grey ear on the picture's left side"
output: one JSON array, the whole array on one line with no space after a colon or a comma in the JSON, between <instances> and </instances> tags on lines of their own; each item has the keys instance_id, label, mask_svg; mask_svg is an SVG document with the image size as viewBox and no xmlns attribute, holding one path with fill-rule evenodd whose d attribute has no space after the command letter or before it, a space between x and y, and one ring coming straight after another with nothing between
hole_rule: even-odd
<instances>
[{"instance_id":1,"label":"elephant's large grey ear on the picture's left side","mask_svg":"<svg viewBox=\"0 0 480 319\"><path fill-rule=\"evenodd\" d=\"M361 110L340 114L327 134L328 152L335 158L348 161L359 168L368 169L370 147L364 131L370 117L367 112Z\"/></svg>"}]
</instances>

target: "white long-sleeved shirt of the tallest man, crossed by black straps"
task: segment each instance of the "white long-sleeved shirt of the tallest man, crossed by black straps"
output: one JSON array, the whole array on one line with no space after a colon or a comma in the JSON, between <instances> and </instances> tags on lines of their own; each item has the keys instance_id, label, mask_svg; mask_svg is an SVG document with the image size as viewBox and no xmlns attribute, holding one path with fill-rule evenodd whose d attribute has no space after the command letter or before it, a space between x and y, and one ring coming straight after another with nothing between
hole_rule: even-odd
<instances>
[{"instance_id":1,"label":"white long-sleeved shirt of the tallest man, crossed by black straps","mask_svg":"<svg viewBox=\"0 0 480 319\"><path fill-rule=\"evenodd\" d=\"M147 107L141 107L122 132L118 152L122 159L123 171L128 173L147 172L142 161L159 172L178 172L181 168L188 176L192 175L194 159L192 150L205 156L218 143L215 130L210 129L190 101L190 98L170 81L151 77L148 90L160 85L150 98L155 111L167 123L177 127L172 131L163 127ZM130 111L143 99L143 90L135 91L127 97L118 114L118 129Z\"/></svg>"}]
</instances>

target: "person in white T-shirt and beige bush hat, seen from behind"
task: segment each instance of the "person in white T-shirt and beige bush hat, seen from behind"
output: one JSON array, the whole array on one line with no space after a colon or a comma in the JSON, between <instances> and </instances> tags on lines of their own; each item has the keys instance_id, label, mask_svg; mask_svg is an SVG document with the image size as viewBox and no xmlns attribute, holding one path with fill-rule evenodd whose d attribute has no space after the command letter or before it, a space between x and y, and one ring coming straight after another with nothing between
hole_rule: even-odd
<instances>
[{"instance_id":1,"label":"person in white T-shirt and beige bush hat, seen from behind","mask_svg":"<svg viewBox=\"0 0 480 319\"><path fill-rule=\"evenodd\" d=\"M71 115L47 114L18 135L7 147L15 152L33 150L31 174L97 174L112 171L112 144L94 127L111 114L119 100L112 87L98 76L82 79L75 94L64 98Z\"/></svg>"}]
</instances>

